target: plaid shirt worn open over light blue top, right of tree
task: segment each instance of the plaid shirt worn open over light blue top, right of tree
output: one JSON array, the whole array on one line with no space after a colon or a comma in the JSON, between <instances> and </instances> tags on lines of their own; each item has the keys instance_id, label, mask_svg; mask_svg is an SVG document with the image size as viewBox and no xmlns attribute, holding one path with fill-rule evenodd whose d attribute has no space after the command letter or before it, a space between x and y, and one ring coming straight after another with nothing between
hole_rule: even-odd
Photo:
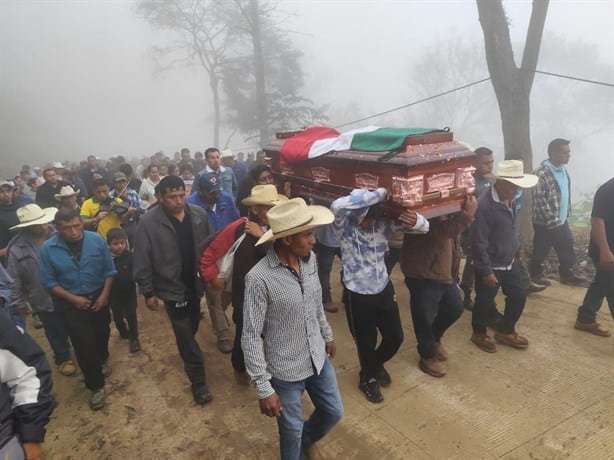
<instances>
[{"instance_id":1,"label":"plaid shirt worn open over light blue top, right of tree","mask_svg":"<svg viewBox=\"0 0 614 460\"><path fill-rule=\"evenodd\" d=\"M533 223L536 225L545 225L547 228L552 229L564 224L561 222L561 189L556 182L556 178L550 168L546 165L546 161L542 161L542 164L535 170L534 173L537 178L537 185L533 189ZM565 170L567 176L568 187L571 190L571 180L567 170ZM567 217L571 212L571 194L569 198L569 211Z\"/></svg>"}]
</instances>

